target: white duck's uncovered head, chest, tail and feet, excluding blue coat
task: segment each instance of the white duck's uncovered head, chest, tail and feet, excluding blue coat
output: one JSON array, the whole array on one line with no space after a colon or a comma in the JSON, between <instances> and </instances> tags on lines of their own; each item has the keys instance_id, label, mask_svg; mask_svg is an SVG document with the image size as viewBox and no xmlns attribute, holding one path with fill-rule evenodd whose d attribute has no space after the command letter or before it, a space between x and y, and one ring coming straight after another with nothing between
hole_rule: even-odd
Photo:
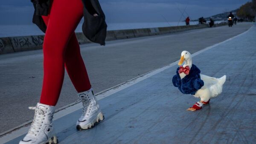
<instances>
[{"instance_id":1,"label":"white duck's uncovered head, chest, tail and feet, excluding blue coat","mask_svg":"<svg viewBox=\"0 0 256 144\"><path fill-rule=\"evenodd\" d=\"M183 51L181 53L180 61L178 65L182 65L184 63L183 67L189 66L190 68L192 67L192 56L188 51ZM186 74L184 72L180 73L180 78L184 78ZM209 77L207 75L202 75L200 74L201 80L204 81L204 86L201 87L201 89L198 89L197 92L195 92L195 97L196 98L201 98L200 102L195 103L197 107L200 107L201 109L203 104L209 104L210 98L214 98L221 94L222 92L222 86L226 81L226 75L222 76L221 78L213 78ZM187 109L190 111L195 111L197 108L194 106Z\"/></svg>"}]
</instances>

